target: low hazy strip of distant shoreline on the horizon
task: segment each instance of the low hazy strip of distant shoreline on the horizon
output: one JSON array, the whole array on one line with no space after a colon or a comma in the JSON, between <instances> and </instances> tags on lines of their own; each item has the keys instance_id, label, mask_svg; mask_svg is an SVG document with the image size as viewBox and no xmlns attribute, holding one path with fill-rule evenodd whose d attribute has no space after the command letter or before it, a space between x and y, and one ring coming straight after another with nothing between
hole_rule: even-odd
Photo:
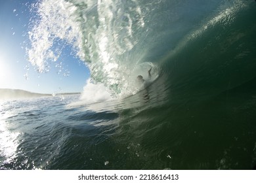
<instances>
[{"instance_id":1,"label":"low hazy strip of distant shoreline on the horizon","mask_svg":"<svg viewBox=\"0 0 256 183\"><path fill-rule=\"evenodd\" d=\"M0 99L23 99L23 98L35 98L35 97L54 97L58 95L75 95L75 93L33 93L26 90L0 88Z\"/></svg>"}]
</instances>

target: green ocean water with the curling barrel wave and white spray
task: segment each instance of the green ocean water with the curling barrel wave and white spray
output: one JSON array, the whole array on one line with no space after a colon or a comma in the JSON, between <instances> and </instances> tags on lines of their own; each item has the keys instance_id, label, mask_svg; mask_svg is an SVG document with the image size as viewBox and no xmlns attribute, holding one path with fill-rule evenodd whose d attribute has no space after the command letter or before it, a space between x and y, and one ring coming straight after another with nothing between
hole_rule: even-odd
<instances>
[{"instance_id":1,"label":"green ocean water with the curling barrel wave and white spray","mask_svg":"<svg viewBox=\"0 0 256 183\"><path fill-rule=\"evenodd\" d=\"M0 169L255 168L255 1L31 8L30 63L47 72L72 46L91 79L81 95L2 101Z\"/></svg>"}]
</instances>

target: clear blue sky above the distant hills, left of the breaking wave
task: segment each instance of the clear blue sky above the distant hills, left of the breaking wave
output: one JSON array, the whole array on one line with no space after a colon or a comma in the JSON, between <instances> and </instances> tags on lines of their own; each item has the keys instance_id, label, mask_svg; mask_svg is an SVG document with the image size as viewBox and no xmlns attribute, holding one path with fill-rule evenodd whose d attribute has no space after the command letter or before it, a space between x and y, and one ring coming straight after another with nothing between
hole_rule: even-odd
<instances>
[{"instance_id":1,"label":"clear blue sky above the distant hills, left of the breaking wave","mask_svg":"<svg viewBox=\"0 0 256 183\"><path fill-rule=\"evenodd\" d=\"M0 88L37 93L82 92L90 75L89 69L71 55L69 46L62 50L48 73L37 73L27 60L28 24L32 16L28 5L34 2L0 1ZM56 67L60 63L61 67Z\"/></svg>"}]
</instances>

